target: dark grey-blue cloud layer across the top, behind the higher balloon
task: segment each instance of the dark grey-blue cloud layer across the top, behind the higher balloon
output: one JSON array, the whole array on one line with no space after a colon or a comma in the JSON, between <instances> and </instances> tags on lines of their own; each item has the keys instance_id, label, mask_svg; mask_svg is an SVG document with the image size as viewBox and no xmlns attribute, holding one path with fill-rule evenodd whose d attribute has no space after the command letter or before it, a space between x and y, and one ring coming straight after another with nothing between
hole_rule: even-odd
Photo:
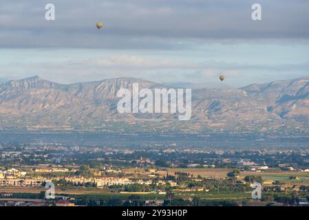
<instances>
[{"instance_id":1,"label":"dark grey-blue cloud layer across the top, behind the higher balloon","mask_svg":"<svg viewBox=\"0 0 309 220\"><path fill-rule=\"evenodd\" d=\"M259 0L262 21L252 21L251 0L54 0L56 21L45 21L45 3L1 1L0 47L175 50L205 41L309 39L303 0Z\"/></svg>"}]
</instances>

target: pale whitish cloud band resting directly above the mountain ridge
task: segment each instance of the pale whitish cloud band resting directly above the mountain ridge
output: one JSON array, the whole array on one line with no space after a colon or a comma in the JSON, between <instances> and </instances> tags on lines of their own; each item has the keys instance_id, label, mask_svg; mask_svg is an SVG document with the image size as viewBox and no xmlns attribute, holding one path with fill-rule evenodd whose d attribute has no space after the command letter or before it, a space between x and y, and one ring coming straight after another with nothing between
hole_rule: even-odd
<instances>
[{"instance_id":1,"label":"pale whitish cloud band resting directly above the mountain ridge","mask_svg":"<svg viewBox=\"0 0 309 220\"><path fill-rule=\"evenodd\" d=\"M54 51L47 50L51 54ZM74 53L76 51L74 50ZM58 53L61 54L61 53ZM83 50L79 52L83 54ZM23 57L23 56L21 56ZM42 55L43 57L43 55ZM182 58L158 58L140 55L119 54L93 56L92 58L70 58L63 61L19 61L19 65L6 63L1 72L6 78L25 78L39 75L57 83L77 83L105 78L135 77L163 82L213 82L220 74L234 86L268 82L284 78L297 78L308 74L309 63L286 65L262 65L219 61L192 61Z\"/></svg>"}]
</instances>

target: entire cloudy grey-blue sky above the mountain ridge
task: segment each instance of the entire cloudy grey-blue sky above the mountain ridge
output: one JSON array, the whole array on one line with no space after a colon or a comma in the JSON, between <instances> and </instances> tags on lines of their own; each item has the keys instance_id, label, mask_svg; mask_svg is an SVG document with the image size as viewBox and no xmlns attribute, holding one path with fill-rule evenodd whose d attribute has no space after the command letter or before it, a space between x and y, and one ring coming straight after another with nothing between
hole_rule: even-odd
<instances>
[{"instance_id":1,"label":"entire cloudy grey-blue sky above the mountain ridge","mask_svg":"<svg viewBox=\"0 0 309 220\"><path fill-rule=\"evenodd\" d=\"M309 76L308 27L308 0L1 0L0 81L209 83L223 73L240 87Z\"/></svg>"}]
</instances>

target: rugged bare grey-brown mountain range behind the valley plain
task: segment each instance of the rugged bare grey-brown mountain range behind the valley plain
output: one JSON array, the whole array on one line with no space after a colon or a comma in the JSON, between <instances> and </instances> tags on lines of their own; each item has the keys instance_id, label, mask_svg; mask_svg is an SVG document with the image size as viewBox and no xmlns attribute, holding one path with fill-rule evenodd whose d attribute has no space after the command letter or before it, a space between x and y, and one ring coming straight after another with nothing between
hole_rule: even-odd
<instances>
[{"instance_id":1,"label":"rugged bare grey-brown mountain range behind the valley plain","mask_svg":"<svg viewBox=\"0 0 309 220\"><path fill-rule=\"evenodd\" d=\"M120 114L116 93L141 88L192 87L192 118L177 114ZM0 84L0 129L100 131L274 132L309 129L309 77L253 84L239 89L190 83L159 84L112 78L63 85L33 76Z\"/></svg>"}]
</instances>

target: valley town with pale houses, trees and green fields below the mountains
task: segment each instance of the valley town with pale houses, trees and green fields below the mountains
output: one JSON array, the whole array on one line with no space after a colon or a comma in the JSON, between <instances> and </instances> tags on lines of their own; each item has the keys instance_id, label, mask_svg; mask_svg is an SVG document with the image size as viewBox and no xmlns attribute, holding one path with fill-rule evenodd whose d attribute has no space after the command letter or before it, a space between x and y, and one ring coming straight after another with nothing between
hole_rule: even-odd
<instances>
[{"instance_id":1,"label":"valley town with pale houses, trees and green fields below the mountains","mask_svg":"<svg viewBox=\"0 0 309 220\"><path fill-rule=\"evenodd\" d=\"M11 143L0 156L0 206L308 206L306 149Z\"/></svg>"}]
</instances>

